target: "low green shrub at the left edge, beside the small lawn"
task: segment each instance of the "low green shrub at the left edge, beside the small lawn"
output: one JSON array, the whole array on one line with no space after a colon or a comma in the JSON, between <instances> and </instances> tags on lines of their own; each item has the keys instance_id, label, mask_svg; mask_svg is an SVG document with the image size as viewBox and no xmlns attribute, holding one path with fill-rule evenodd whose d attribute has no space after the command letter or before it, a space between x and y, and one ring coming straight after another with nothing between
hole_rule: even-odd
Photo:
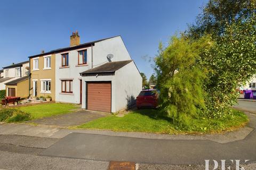
<instances>
[{"instance_id":1,"label":"low green shrub at the left edge, beside the small lawn","mask_svg":"<svg viewBox=\"0 0 256 170\"><path fill-rule=\"evenodd\" d=\"M30 115L18 109L3 108L0 110L0 122L21 122L30 120Z\"/></svg>"}]
</instances>

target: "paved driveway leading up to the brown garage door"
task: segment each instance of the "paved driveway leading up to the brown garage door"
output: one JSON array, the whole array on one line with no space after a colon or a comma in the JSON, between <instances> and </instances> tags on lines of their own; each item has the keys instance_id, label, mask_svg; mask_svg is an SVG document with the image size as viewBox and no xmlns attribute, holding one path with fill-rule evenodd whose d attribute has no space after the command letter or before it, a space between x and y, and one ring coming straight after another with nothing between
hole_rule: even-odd
<instances>
[{"instance_id":1,"label":"paved driveway leading up to the brown garage door","mask_svg":"<svg viewBox=\"0 0 256 170\"><path fill-rule=\"evenodd\" d=\"M109 115L109 113L97 112L97 111L78 111L69 114L51 116L39 118L37 120L28 121L29 123L36 123L39 125L50 125L61 128L67 128L68 126L81 125L86 122L90 122L100 117Z\"/></svg>"}]
</instances>

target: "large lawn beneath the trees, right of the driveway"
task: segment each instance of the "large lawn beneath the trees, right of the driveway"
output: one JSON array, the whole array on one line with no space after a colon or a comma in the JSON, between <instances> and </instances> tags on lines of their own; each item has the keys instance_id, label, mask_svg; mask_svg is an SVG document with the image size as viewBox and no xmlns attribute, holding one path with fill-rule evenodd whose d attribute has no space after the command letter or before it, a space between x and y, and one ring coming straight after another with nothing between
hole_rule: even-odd
<instances>
[{"instance_id":1,"label":"large lawn beneath the trees, right of the driveway","mask_svg":"<svg viewBox=\"0 0 256 170\"><path fill-rule=\"evenodd\" d=\"M233 130L243 126L247 116L239 111L234 111L233 116L223 120L191 120L187 129L180 129L170 118L161 116L155 109L141 109L133 111L124 117L109 115L97 120L77 126L83 129L106 129L113 131L138 131L154 133L213 133Z\"/></svg>"}]
</instances>

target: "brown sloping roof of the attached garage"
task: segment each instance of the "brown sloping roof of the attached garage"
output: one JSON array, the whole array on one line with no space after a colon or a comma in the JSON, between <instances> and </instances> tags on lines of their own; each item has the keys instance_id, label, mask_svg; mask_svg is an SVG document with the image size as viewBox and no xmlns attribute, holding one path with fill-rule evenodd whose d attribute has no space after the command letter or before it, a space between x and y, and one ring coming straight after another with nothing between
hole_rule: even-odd
<instances>
[{"instance_id":1,"label":"brown sloping roof of the attached garage","mask_svg":"<svg viewBox=\"0 0 256 170\"><path fill-rule=\"evenodd\" d=\"M115 71L121 69L123 66L131 62L132 60L109 62L106 64L102 64L98 67L95 67L93 69L86 70L80 74L86 75L86 74L97 74L97 73L115 73Z\"/></svg>"}]
</instances>

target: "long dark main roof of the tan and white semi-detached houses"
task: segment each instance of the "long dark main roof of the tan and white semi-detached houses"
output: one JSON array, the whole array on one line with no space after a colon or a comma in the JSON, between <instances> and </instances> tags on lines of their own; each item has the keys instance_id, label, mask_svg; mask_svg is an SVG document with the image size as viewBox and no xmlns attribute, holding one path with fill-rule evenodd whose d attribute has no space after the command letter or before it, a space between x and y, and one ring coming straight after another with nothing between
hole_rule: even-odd
<instances>
[{"instance_id":1,"label":"long dark main roof of the tan and white semi-detached houses","mask_svg":"<svg viewBox=\"0 0 256 170\"><path fill-rule=\"evenodd\" d=\"M67 51L67 50L74 50L74 49L78 49L78 48L89 47L89 46L91 46L91 45L94 45L94 43L98 43L98 42L100 42L100 41L103 41L103 40L106 40L106 39L110 39L110 38L115 38L115 37L118 37L118 36L109 37L109 38L104 38L104 39L99 39L99 40L91 41L91 42L89 42L89 43L80 44L80 45L77 45L77 46L65 47L65 48L58 48L58 49L51 50L50 52L46 52L46 53L41 53L41 54L29 56L29 58L32 58L32 57L39 57L39 56L42 56L42 55L49 55L49 54L54 54L54 53L61 53L61 52L65 52L65 51Z\"/></svg>"}]
</instances>

